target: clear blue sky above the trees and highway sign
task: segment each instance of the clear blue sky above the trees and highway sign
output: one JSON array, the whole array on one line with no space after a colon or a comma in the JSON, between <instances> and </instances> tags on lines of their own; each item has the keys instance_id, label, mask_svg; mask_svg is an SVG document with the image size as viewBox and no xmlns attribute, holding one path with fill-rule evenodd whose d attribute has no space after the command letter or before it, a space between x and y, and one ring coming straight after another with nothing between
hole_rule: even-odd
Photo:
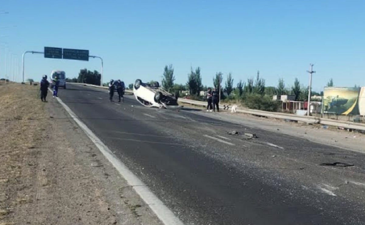
<instances>
[{"instance_id":1,"label":"clear blue sky above the trees and highway sign","mask_svg":"<svg viewBox=\"0 0 365 225\"><path fill-rule=\"evenodd\" d=\"M308 85L314 63L316 91L330 78L335 86L365 86L364 9L362 0L0 0L0 13L9 12L0 14L0 76L7 42L19 62L44 46L88 49L104 59L104 82L160 81L172 64L177 83L200 66L208 86L217 71L236 83L257 70L267 86L279 78L292 86L296 77ZM25 76L61 69L77 77L100 67L99 59L27 54Z\"/></svg>"}]
</instances>

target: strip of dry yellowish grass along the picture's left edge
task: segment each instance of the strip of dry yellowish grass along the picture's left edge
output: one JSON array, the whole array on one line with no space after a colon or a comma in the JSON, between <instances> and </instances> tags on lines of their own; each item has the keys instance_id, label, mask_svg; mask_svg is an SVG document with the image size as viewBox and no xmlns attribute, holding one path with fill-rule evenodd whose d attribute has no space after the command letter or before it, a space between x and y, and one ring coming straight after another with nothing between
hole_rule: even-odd
<instances>
[{"instance_id":1,"label":"strip of dry yellowish grass along the picture's left edge","mask_svg":"<svg viewBox=\"0 0 365 225\"><path fill-rule=\"evenodd\" d=\"M32 182L46 120L39 87L14 83L0 85L0 224L13 224L12 212L32 201Z\"/></svg>"}]
</instances>

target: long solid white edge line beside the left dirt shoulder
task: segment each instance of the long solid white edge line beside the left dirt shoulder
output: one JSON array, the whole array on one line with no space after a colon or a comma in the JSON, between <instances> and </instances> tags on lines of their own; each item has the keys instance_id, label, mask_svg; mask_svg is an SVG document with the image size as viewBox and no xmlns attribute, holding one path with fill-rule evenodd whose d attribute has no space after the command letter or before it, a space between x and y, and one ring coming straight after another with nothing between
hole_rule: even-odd
<instances>
[{"instance_id":1,"label":"long solid white edge line beside the left dirt shoulder","mask_svg":"<svg viewBox=\"0 0 365 225\"><path fill-rule=\"evenodd\" d=\"M164 203L157 198L155 194L143 183L136 175L134 175L124 163L122 163L110 149L84 124L81 120L77 119L77 116L72 110L60 99L57 101L64 107L73 120L80 126L80 128L86 133L90 140L99 148L100 152L109 160L109 162L116 168L120 175L133 187L135 192L150 209L156 214L156 216L165 225L184 225L183 222L175 216L175 214L164 205Z\"/></svg>"}]
</instances>

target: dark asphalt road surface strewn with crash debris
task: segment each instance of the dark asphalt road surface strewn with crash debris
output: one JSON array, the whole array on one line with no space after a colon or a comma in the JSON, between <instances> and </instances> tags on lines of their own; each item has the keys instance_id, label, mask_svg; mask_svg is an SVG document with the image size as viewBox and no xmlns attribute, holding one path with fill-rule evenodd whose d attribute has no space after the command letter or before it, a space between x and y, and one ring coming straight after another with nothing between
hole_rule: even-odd
<instances>
[{"instance_id":1,"label":"dark asphalt road surface strewn with crash debris","mask_svg":"<svg viewBox=\"0 0 365 225\"><path fill-rule=\"evenodd\" d=\"M82 85L59 97L185 224L365 224L364 154Z\"/></svg>"}]
</instances>

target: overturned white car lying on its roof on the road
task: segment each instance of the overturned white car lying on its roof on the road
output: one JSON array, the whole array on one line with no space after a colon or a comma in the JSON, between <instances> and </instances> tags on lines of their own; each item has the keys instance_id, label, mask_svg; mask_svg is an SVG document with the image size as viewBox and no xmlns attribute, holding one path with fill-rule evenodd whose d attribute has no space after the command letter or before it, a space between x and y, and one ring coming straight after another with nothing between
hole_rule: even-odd
<instances>
[{"instance_id":1,"label":"overturned white car lying on its roof on the road","mask_svg":"<svg viewBox=\"0 0 365 225\"><path fill-rule=\"evenodd\" d=\"M133 85L133 94L142 105L158 108L177 108L177 98L160 87L158 82L143 83L137 79Z\"/></svg>"}]
</instances>

